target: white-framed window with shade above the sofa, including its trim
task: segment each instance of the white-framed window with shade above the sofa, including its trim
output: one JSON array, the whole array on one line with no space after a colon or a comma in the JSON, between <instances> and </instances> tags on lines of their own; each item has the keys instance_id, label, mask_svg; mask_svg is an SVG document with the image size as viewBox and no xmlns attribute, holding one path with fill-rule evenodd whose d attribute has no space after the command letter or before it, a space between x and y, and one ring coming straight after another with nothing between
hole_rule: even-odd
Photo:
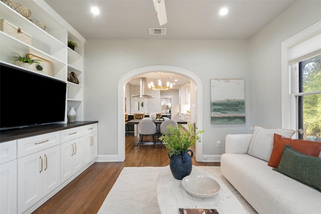
<instances>
[{"instance_id":1,"label":"white-framed window with shade above the sofa, including its trim","mask_svg":"<svg viewBox=\"0 0 321 214\"><path fill-rule=\"evenodd\" d=\"M281 45L281 126L321 141L321 22Z\"/></svg>"}]
</instances>

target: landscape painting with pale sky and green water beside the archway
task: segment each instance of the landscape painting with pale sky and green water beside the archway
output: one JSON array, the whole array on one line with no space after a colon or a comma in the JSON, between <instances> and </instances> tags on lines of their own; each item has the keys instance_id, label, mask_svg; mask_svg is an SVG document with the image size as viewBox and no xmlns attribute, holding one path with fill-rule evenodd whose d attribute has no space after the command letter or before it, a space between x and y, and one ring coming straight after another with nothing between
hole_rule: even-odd
<instances>
[{"instance_id":1,"label":"landscape painting with pale sky and green water beside the archway","mask_svg":"<svg viewBox=\"0 0 321 214\"><path fill-rule=\"evenodd\" d=\"M211 79L211 124L245 123L245 85L241 79Z\"/></svg>"}]
</instances>

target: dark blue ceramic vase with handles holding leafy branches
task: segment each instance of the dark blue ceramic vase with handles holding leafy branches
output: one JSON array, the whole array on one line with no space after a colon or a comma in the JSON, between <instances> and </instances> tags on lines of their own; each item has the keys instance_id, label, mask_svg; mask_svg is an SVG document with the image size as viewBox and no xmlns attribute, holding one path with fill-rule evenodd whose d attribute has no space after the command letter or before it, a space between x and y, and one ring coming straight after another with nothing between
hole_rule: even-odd
<instances>
[{"instance_id":1,"label":"dark blue ceramic vase with handles holding leafy branches","mask_svg":"<svg viewBox=\"0 0 321 214\"><path fill-rule=\"evenodd\" d=\"M189 152L191 152L191 154ZM185 176L191 174L193 155L193 151L188 149L181 154L172 155L172 157L169 156L171 159L170 168L176 179L182 180Z\"/></svg>"}]
</instances>

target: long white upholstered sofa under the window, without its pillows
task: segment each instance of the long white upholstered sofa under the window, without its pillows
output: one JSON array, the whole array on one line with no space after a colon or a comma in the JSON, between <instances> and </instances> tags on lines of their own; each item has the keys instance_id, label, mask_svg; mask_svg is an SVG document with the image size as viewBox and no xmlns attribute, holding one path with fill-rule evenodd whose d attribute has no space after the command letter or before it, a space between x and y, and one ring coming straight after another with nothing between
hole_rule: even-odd
<instances>
[{"instance_id":1,"label":"long white upholstered sofa under the window, without its pillows","mask_svg":"<svg viewBox=\"0 0 321 214\"><path fill-rule=\"evenodd\" d=\"M321 192L272 170L247 153L252 134L226 136L221 171L259 213L321 213ZM321 178L320 178L321 179Z\"/></svg>"}]
</instances>

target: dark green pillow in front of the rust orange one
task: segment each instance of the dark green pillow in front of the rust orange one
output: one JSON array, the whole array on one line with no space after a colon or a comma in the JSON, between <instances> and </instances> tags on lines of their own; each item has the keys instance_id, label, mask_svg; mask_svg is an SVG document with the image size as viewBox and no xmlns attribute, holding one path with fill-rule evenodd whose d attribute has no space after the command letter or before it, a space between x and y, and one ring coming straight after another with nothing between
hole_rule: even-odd
<instances>
[{"instance_id":1,"label":"dark green pillow in front of the rust orange one","mask_svg":"<svg viewBox=\"0 0 321 214\"><path fill-rule=\"evenodd\" d=\"M305 155L286 144L278 168L273 170L321 191L321 158Z\"/></svg>"}]
</instances>

